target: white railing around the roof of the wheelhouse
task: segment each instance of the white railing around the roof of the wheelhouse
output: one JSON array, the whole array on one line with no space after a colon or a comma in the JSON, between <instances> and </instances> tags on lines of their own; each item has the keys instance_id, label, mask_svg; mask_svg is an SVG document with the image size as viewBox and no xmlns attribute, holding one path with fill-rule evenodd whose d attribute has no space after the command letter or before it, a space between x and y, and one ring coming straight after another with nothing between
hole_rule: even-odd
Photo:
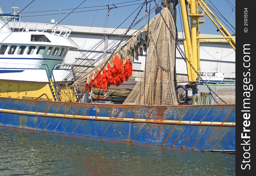
<instances>
[{"instance_id":1,"label":"white railing around the roof of the wheelhouse","mask_svg":"<svg viewBox=\"0 0 256 176\"><path fill-rule=\"evenodd\" d=\"M58 24L9 22L8 25L12 32L42 31L59 34L64 37L68 37L72 32L72 29Z\"/></svg>"}]
</instances>

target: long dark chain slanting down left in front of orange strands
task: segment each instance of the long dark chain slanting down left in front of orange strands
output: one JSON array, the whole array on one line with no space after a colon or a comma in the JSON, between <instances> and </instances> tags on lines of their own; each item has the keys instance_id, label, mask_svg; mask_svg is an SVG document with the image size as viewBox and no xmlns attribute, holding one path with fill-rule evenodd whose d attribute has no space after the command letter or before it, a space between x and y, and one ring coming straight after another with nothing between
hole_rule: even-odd
<instances>
[{"instance_id":1,"label":"long dark chain slanting down left in front of orange strands","mask_svg":"<svg viewBox=\"0 0 256 176\"><path fill-rule=\"evenodd\" d=\"M115 49L113 50L113 52L111 53L111 55L110 55L110 57L108 58L107 62L102 66L100 72L95 76L95 78L93 79L93 81L88 84L87 88L86 88L86 89L84 90L84 92L78 97L77 101L79 101L79 99L82 98L82 96L83 96L84 93L87 91L87 89L92 86L92 83L96 80L96 78L99 76L99 74L101 74L103 68L107 65L107 63L109 62L109 60L113 57L115 51L117 50L117 48L119 47L119 45L120 45L120 44L122 43L122 41L124 40L124 37L125 37L125 36L127 35L127 33L131 30L131 27L132 27L133 23L135 22L135 20L136 20L137 17L139 16L139 13L140 13L141 10L143 9L144 5L145 5L145 2L142 4L141 8L139 9L139 11L138 11L137 15L135 16L134 20L132 21L131 25L130 25L129 28L126 30L126 32L124 33L122 39L120 40L120 42L117 44L116 48L115 48ZM77 101L76 101L76 102L77 102Z\"/></svg>"}]
</instances>

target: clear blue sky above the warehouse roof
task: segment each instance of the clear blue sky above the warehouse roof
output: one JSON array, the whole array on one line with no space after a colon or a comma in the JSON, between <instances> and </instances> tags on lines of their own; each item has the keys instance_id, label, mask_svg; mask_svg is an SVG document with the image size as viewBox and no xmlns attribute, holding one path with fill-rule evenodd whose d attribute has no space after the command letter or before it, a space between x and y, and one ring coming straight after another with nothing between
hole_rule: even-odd
<instances>
[{"instance_id":1,"label":"clear blue sky above the warehouse roof","mask_svg":"<svg viewBox=\"0 0 256 176\"><path fill-rule=\"evenodd\" d=\"M112 27L116 28L128 28L132 23L134 17L137 15L139 9L137 9L144 0L86 0L79 6L84 0L0 0L0 7L3 13L12 13L12 6L19 7L16 11L21 11L27 6L21 13L21 22L35 22L35 23L51 23L51 19L55 19L55 22L65 25L77 25L77 26L98 26L98 27ZM132 2L130 2L132 1ZM159 0L157 0L158 2ZM205 0L212 8L217 8L219 14L223 15L228 23L235 28L235 0ZM231 4L230 4L231 3ZM117 8L110 9L109 16L107 6L109 8L114 7L111 4L117 6ZM214 5L212 5L214 4ZM72 12L74 8L79 6L80 9L74 10L69 16L66 12ZM155 6L154 1L151 2L151 9ZM59 9L68 9L61 10ZM137 10L136 10L137 9ZM149 10L149 3L147 9ZM136 10L136 11L135 11ZM134 12L135 11L135 12ZM134 12L134 13L133 13ZM213 11L214 12L214 11ZM61 13L61 14L58 14ZM133 13L131 15L131 13ZM50 14L50 15L47 15ZM145 6L137 17L136 21L142 18L146 14ZM129 15L131 15L126 21L124 21ZM150 19L153 18L155 13L150 15ZM67 16L66 18L64 18ZM62 20L64 18L64 20ZM222 24L230 32L235 34L235 29L232 28L227 21L222 19ZM122 23L124 21L124 23ZM135 22L136 22L135 21ZM138 29L147 23L147 18L144 18L134 29ZM184 31L181 25L179 17L179 7L177 6L177 29L178 32ZM205 23L199 27L199 32L204 34L218 34L217 28L212 24L210 19L206 18Z\"/></svg>"}]
</instances>

